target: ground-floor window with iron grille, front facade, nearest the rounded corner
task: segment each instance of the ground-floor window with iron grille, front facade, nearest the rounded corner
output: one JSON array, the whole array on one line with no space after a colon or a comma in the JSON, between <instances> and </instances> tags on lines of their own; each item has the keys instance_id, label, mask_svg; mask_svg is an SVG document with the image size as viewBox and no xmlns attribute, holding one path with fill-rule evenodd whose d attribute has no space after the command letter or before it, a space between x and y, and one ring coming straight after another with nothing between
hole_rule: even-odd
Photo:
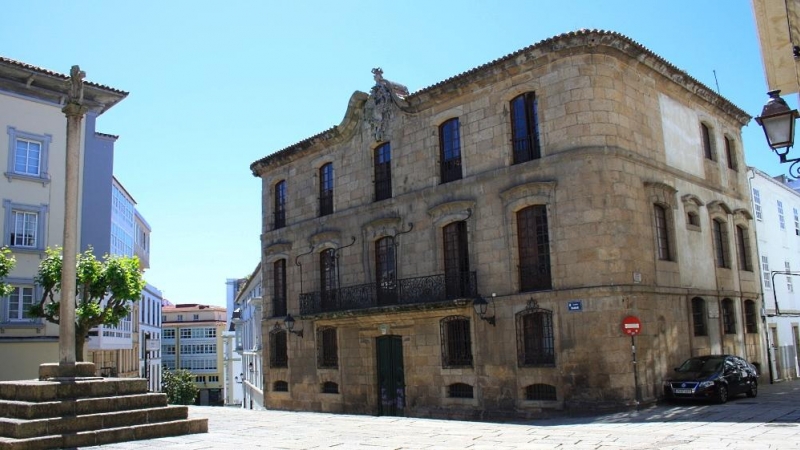
<instances>
[{"instance_id":1,"label":"ground-floor window with iron grille, front facade, nearest the rounded corner","mask_svg":"<svg viewBox=\"0 0 800 450\"><path fill-rule=\"evenodd\" d=\"M517 359L520 367L556 363L553 313L537 306L517 313Z\"/></svg>"}]
</instances>

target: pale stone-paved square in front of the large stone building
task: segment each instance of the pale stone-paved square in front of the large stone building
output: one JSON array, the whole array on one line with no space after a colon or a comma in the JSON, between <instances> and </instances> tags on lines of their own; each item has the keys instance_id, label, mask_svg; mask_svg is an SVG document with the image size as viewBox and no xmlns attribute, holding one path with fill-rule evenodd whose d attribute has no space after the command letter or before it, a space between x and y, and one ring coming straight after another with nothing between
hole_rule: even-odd
<instances>
[{"instance_id":1,"label":"pale stone-paved square in front of the large stone building","mask_svg":"<svg viewBox=\"0 0 800 450\"><path fill-rule=\"evenodd\" d=\"M98 450L163 449L800 449L800 381L724 405L659 405L520 424L192 406L209 432Z\"/></svg>"}]
</instances>

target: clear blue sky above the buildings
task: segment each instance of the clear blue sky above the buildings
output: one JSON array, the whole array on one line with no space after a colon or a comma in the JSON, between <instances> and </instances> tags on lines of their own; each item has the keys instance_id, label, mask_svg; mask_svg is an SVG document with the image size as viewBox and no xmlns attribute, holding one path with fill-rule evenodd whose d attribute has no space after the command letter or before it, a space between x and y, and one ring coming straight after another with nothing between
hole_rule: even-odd
<instances>
[{"instance_id":1,"label":"clear blue sky above the buildings","mask_svg":"<svg viewBox=\"0 0 800 450\"><path fill-rule=\"evenodd\" d=\"M153 228L145 278L225 303L259 260L250 163L338 124L370 70L414 92L557 34L620 32L757 116L767 100L749 0L31 0L3 5L0 54L129 91L98 120ZM469 6L467 6L469 5ZM715 80L716 72L716 80ZM795 104L794 96L789 98ZM748 165L785 173L752 121Z\"/></svg>"}]
</instances>

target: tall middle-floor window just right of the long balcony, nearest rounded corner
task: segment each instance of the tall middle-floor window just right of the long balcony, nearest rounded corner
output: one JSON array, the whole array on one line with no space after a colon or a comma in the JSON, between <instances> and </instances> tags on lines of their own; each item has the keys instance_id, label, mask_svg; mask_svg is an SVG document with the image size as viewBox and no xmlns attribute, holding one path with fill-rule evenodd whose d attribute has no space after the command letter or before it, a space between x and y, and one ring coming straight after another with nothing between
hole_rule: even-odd
<instances>
[{"instance_id":1,"label":"tall middle-floor window just right of the long balcony, nearest rounded corner","mask_svg":"<svg viewBox=\"0 0 800 450\"><path fill-rule=\"evenodd\" d=\"M529 206L517 212L517 247L520 291L550 289L550 235L545 205Z\"/></svg>"}]
</instances>

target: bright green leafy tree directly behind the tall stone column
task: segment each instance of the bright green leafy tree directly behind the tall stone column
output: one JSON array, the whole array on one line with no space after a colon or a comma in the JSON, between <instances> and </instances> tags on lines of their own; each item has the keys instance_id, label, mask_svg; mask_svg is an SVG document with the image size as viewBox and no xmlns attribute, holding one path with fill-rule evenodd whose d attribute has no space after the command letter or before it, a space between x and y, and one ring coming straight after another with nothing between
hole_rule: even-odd
<instances>
[{"instance_id":1,"label":"bright green leafy tree directly behind the tall stone column","mask_svg":"<svg viewBox=\"0 0 800 450\"><path fill-rule=\"evenodd\" d=\"M78 255L75 293L75 360L83 361L83 347L89 330L98 325L116 326L130 312L130 302L141 298L145 281L139 270L139 258L105 255L98 260L92 249ZM61 308L61 249L48 248L39 264L36 283L42 298L30 312L59 323Z\"/></svg>"}]
</instances>

